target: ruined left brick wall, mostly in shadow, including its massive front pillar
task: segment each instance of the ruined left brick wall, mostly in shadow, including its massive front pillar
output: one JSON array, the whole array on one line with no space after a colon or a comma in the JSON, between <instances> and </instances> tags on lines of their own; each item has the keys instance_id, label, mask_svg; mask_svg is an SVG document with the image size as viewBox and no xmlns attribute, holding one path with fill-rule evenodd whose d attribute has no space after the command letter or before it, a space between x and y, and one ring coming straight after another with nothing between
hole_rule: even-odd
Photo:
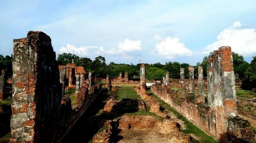
<instances>
[{"instance_id":1,"label":"ruined left brick wall, mostly in shadow, including its massive front pillar","mask_svg":"<svg viewBox=\"0 0 256 143\"><path fill-rule=\"evenodd\" d=\"M10 142L59 142L100 93L91 72L90 86L79 80L71 107L70 98L63 96L65 72L73 87L73 71L83 78L83 70L74 64L58 67L55 58L51 38L43 32L30 31L26 38L13 40Z\"/></svg>"}]
</instances>

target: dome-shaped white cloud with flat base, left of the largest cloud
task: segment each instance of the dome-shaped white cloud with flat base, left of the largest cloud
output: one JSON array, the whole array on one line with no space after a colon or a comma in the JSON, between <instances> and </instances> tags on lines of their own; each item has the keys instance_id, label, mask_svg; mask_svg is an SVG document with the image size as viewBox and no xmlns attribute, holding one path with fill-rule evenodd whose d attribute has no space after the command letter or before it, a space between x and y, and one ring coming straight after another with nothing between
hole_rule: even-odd
<instances>
[{"instance_id":1,"label":"dome-shaped white cloud with flat base, left of the largest cloud","mask_svg":"<svg viewBox=\"0 0 256 143\"><path fill-rule=\"evenodd\" d=\"M178 38L167 37L164 41L158 42L151 53L161 55L166 59L174 59L181 55L190 56L193 52L186 48L184 43L180 43Z\"/></svg>"}]
</instances>

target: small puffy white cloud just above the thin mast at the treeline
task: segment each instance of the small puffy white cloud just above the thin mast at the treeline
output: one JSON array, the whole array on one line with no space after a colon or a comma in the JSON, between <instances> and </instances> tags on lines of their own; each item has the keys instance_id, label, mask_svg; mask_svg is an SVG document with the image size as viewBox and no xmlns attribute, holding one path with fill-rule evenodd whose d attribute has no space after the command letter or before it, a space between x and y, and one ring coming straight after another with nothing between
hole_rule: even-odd
<instances>
[{"instance_id":1,"label":"small puffy white cloud just above the thin mast at the treeline","mask_svg":"<svg viewBox=\"0 0 256 143\"><path fill-rule=\"evenodd\" d=\"M118 48L111 48L106 50L108 54L125 54L126 52L141 51L141 41L132 41L130 39L125 39L120 42Z\"/></svg>"}]
</instances>

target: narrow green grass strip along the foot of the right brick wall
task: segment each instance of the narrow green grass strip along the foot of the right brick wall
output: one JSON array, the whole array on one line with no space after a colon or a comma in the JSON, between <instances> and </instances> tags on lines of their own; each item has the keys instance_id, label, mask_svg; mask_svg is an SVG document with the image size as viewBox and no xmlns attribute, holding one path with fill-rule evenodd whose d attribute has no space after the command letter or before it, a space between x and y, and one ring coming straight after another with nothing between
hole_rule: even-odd
<instances>
[{"instance_id":1,"label":"narrow green grass strip along the foot of the right brick wall","mask_svg":"<svg viewBox=\"0 0 256 143\"><path fill-rule=\"evenodd\" d=\"M152 92L148 91L148 93L152 93ZM178 119L181 119L184 122L184 124L186 125L186 129L185 130L180 130L181 132L184 132L186 134L192 133L192 134L195 134L196 136L200 137L200 139L201 139L200 141L195 140L193 138L193 142L207 142L207 143L216 142L216 140L214 140L214 138L212 138L211 136L208 136L206 133L204 133L202 130L200 130L197 126L193 125L185 117L183 117L178 111L176 111L174 108L170 107L163 100L158 98L153 93L152 93L152 96L155 97L158 100L161 107L165 108L165 110L167 110L167 111L172 111L177 116Z\"/></svg>"}]
</instances>

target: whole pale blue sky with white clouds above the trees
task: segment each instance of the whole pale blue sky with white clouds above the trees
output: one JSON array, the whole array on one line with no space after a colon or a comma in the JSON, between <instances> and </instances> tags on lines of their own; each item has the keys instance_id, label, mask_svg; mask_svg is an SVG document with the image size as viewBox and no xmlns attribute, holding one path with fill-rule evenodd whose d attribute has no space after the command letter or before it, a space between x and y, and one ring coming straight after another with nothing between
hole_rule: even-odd
<instances>
[{"instance_id":1,"label":"whole pale blue sky with white clouds above the trees","mask_svg":"<svg viewBox=\"0 0 256 143\"><path fill-rule=\"evenodd\" d=\"M256 1L4 1L0 54L13 39L42 31L56 54L106 62L196 65L210 51L231 46L247 62L256 55Z\"/></svg>"}]
</instances>

